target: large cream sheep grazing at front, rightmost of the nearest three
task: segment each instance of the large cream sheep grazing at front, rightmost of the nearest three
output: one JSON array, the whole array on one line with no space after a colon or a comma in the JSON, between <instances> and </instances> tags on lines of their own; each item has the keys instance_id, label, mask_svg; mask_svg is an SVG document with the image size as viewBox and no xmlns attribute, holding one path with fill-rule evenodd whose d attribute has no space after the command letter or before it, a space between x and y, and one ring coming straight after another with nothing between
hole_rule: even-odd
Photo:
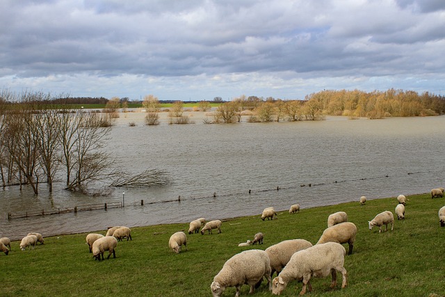
<instances>
[{"instance_id":1,"label":"large cream sheep grazing at front, rightmost of the nearest three","mask_svg":"<svg viewBox=\"0 0 445 297\"><path fill-rule=\"evenodd\" d=\"M272 281L272 293L280 295L291 280L302 280L300 295L306 294L306 286L312 291L312 276L325 278L332 275L331 288L337 285L337 271L343 275L341 289L346 287L347 272L344 268L346 250L339 243L328 242L300 250L292 255L283 271Z\"/></svg>"}]
</instances>

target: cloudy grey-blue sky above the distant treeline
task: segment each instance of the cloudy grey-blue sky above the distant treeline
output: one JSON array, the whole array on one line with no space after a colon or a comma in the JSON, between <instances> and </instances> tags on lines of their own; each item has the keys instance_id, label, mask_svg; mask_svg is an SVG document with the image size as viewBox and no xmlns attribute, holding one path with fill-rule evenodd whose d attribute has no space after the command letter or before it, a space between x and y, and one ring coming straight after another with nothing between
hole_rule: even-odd
<instances>
[{"instance_id":1,"label":"cloudy grey-blue sky above the distant treeline","mask_svg":"<svg viewBox=\"0 0 445 297\"><path fill-rule=\"evenodd\" d=\"M445 1L1 0L0 88L182 101L445 95Z\"/></svg>"}]
</instances>

